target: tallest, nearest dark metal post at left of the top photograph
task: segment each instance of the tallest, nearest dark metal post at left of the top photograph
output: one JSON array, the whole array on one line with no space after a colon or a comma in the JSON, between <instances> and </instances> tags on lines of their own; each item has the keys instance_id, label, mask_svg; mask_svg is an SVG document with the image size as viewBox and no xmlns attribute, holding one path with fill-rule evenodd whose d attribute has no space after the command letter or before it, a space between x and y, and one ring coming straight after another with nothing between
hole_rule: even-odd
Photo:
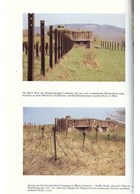
<instances>
[{"instance_id":1,"label":"tallest, nearest dark metal post at left of the top photograph","mask_svg":"<svg viewBox=\"0 0 140 194\"><path fill-rule=\"evenodd\" d=\"M28 14L28 81L34 80L34 14Z\"/></svg>"}]
</instances>

